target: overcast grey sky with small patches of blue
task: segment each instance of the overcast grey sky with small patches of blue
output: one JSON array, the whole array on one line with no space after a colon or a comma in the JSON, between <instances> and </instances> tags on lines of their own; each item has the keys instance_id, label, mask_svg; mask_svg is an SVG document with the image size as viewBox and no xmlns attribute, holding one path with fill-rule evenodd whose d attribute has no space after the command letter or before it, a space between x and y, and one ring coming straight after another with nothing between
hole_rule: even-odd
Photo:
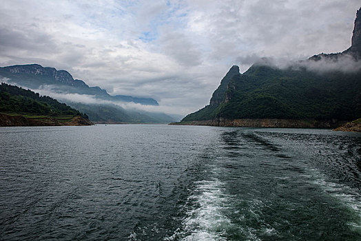
<instances>
[{"instance_id":1,"label":"overcast grey sky with small patches of blue","mask_svg":"<svg viewBox=\"0 0 361 241\"><path fill-rule=\"evenodd\" d=\"M306 59L351 45L360 0L2 0L0 65L68 70L110 94L189 114L232 65Z\"/></svg>"}]
</instances>

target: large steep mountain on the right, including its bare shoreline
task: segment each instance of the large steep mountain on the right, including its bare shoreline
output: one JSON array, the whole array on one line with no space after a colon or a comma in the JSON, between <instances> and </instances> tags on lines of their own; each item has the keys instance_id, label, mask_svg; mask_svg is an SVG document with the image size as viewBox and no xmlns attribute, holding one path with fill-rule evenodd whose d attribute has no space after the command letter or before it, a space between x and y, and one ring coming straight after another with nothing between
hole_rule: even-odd
<instances>
[{"instance_id":1,"label":"large steep mountain on the right, including its bare shoreline","mask_svg":"<svg viewBox=\"0 0 361 241\"><path fill-rule=\"evenodd\" d=\"M209 105L187 115L181 123L333 127L360 118L360 42L361 9L356 14L349 49L318 54L284 67L262 59L243 74L233 66ZM270 119L273 121L265 121Z\"/></svg>"}]
</instances>

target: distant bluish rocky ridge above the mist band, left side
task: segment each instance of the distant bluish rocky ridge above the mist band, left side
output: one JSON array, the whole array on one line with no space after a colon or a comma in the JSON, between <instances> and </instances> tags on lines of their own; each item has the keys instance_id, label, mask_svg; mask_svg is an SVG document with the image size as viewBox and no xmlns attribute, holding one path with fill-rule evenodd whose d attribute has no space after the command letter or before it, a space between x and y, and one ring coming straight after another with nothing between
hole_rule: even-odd
<instances>
[{"instance_id":1,"label":"distant bluish rocky ridge above the mist band, left side","mask_svg":"<svg viewBox=\"0 0 361 241\"><path fill-rule=\"evenodd\" d=\"M111 96L101 87L89 87L84 81L74 79L68 71L56 70L54 67L43 67L38 64L0 67L0 76L10 78L16 83L34 89L39 88L41 85L59 85L57 89L62 92L90 94L107 101L158 105L158 102L153 98L138 98L124 95Z\"/></svg>"}]
</instances>

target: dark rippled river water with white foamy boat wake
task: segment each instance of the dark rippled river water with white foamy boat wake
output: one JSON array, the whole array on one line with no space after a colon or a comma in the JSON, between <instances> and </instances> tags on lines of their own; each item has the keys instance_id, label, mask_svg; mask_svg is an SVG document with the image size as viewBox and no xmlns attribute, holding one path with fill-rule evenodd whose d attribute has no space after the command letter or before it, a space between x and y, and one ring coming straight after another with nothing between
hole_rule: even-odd
<instances>
[{"instance_id":1,"label":"dark rippled river water with white foamy boat wake","mask_svg":"<svg viewBox=\"0 0 361 241\"><path fill-rule=\"evenodd\" d=\"M361 240L361 134L0 128L0 240Z\"/></svg>"}]
</instances>

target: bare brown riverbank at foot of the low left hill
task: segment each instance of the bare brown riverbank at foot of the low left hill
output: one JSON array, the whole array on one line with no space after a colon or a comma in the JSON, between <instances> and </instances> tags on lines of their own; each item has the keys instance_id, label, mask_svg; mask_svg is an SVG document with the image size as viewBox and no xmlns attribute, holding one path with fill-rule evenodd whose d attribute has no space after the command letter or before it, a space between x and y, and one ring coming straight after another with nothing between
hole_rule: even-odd
<instances>
[{"instance_id":1,"label":"bare brown riverbank at foot of the low left hill","mask_svg":"<svg viewBox=\"0 0 361 241\"><path fill-rule=\"evenodd\" d=\"M0 114L0 127L60 125L94 125L94 123L81 116L30 116L22 114Z\"/></svg>"}]
</instances>

